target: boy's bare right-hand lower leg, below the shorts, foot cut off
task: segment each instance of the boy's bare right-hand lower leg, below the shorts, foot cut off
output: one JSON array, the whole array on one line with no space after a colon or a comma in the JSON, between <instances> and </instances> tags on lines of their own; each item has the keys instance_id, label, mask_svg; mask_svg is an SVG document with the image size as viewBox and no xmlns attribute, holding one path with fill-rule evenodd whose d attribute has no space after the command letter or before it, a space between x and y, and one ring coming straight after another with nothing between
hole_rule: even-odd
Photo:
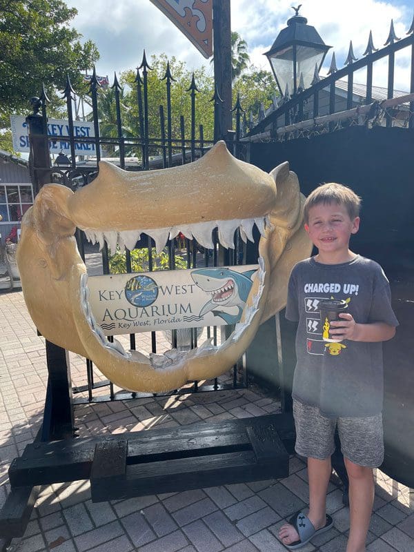
<instances>
[{"instance_id":1,"label":"boy's bare right-hand lower leg, below the shorts, foot cut off","mask_svg":"<svg viewBox=\"0 0 414 552\"><path fill-rule=\"evenodd\" d=\"M345 458L349 478L350 531L346 552L364 552L374 502L373 469Z\"/></svg>"}]
</instances>

